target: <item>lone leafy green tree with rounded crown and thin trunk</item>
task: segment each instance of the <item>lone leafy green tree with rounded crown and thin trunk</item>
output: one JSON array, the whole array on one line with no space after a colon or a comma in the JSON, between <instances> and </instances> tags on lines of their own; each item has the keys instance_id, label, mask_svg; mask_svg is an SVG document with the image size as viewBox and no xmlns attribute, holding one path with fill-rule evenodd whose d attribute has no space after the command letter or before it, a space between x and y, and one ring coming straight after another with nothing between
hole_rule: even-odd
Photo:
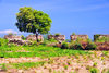
<instances>
[{"instance_id":1,"label":"lone leafy green tree with rounded crown and thin trunk","mask_svg":"<svg viewBox=\"0 0 109 73\"><path fill-rule=\"evenodd\" d=\"M21 32L36 34L36 40L38 41L39 34L47 34L50 31L52 21L48 14L31 7L20 8L19 11L15 25Z\"/></svg>"}]
</instances>

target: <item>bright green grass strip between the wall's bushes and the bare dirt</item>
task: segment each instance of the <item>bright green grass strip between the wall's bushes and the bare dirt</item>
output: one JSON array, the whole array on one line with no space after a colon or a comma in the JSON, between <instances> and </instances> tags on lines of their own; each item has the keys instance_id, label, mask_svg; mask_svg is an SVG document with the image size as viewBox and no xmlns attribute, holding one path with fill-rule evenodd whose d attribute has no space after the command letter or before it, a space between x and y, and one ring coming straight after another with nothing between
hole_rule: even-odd
<instances>
[{"instance_id":1,"label":"bright green grass strip between the wall's bushes and the bare dirt","mask_svg":"<svg viewBox=\"0 0 109 73\"><path fill-rule=\"evenodd\" d=\"M19 52L25 50L27 52ZM92 52L84 50L60 49L46 46L15 46L15 47L0 47L0 57L2 58L20 58L20 57L61 57L61 56L76 56L76 54L90 54ZM12 52L9 52L12 51Z\"/></svg>"}]
</instances>

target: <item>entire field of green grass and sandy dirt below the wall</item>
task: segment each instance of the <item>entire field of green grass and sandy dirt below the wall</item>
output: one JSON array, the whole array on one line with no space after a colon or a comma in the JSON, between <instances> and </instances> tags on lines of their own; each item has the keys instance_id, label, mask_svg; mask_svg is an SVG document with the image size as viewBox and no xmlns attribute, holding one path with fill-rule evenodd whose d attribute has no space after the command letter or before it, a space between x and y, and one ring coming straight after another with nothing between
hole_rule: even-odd
<instances>
[{"instance_id":1,"label":"entire field of green grass and sandy dirt below the wall","mask_svg":"<svg viewBox=\"0 0 109 73\"><path fill-rule=\"evenodd\" d=\"M109 73L109 51L47 46L0 47L0 72Z\"/></svg>"}]
</instances>

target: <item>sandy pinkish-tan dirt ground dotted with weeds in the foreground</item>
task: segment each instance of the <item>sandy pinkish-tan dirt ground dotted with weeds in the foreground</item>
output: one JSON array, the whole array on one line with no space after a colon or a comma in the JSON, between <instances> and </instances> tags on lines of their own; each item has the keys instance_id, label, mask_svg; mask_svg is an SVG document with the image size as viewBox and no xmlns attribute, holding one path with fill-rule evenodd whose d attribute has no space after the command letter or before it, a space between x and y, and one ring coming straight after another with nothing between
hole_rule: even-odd
<instances>
[{"instance_id":1,"label":"sandy pinkish-tan dirt ground dotted with weeds in the foreground","mask_svg":"<svg viewBox=\"0 0 109 73\"><path fill-rule=\"evenodd\" d=\"M0 73L90 73L90 68L96 68L98 73L109 70L109 56L100 51L88 56L65 56L41 59L35 58L0 58L2 63L22 63L46 61L38 68L0 70Z\"/></svg>"}]
</instances>

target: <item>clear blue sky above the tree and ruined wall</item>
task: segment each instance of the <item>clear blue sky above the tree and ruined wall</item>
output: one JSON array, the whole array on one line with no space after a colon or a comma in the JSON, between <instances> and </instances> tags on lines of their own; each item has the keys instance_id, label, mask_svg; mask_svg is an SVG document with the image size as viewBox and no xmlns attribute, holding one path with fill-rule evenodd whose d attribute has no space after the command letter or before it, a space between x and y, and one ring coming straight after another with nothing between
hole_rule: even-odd
<instances>
[{"instance_id":1,"label":"clear blue sky above the tree and ruined wall","mask_svg":"<svg viewBox=\"0 0 109 73\"><path fill-rule=\"evenodd\" d=\"M109 34L109 0L0 0L0 36L21 33L15 26L16 13L22 7L32 7L49 14L51 34L70 35Z\"/></svg>"}]
</instances>

